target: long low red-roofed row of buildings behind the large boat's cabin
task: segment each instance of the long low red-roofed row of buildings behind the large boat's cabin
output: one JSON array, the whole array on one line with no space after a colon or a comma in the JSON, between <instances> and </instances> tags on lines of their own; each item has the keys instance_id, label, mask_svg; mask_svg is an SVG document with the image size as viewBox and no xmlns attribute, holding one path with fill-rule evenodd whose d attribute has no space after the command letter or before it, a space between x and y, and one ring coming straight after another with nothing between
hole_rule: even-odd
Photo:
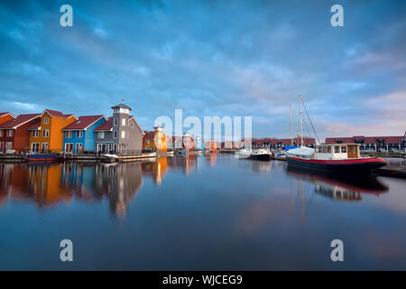
<instances>
[{"instance_id":1,"label":"long low red-roofed row of buildings behind the large boat's cabin","mask_svg":"<svg viewBox=\"0 0 406 289\"><path fill-rule=\"evenodd\" d=\"M406 148L403 136L327 137L326 144L361 144L363 152L401 152Z\"/></svg>"}]
</instances>

